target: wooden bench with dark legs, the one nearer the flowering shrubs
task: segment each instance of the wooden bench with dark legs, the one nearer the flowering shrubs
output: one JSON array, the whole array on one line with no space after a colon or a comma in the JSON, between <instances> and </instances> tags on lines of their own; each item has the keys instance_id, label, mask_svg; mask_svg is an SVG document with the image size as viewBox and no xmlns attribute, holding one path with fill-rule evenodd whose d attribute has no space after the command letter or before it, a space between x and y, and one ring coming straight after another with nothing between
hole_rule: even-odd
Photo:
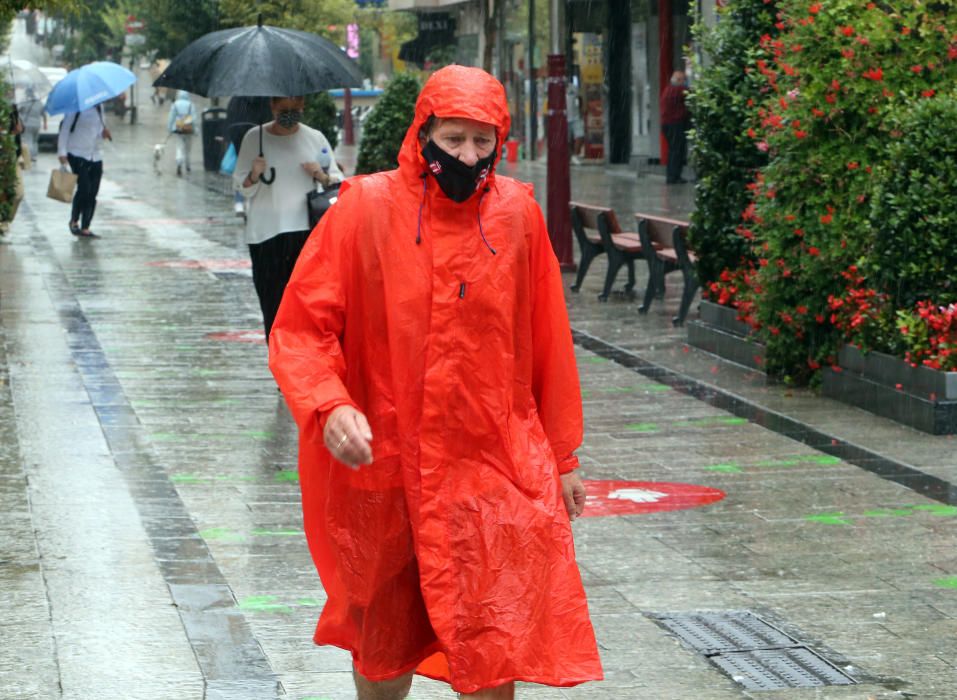
<instances>
[{"instance_id":1,"label":"wooden bench with dark legs, the one nearer the flowering shrubs","mask_svg":"<svg viewBox=\"0 0 957 700\"><path fill-rule=\"evenodd\" d=\"M680 326L685 322L688 309L691 308L691 302L698 291L698 276L694 270L697 258L687 244L688 222L640 212L635 213L635 220L638 223L638 237L645 251L645 260L648 262L648 286L638 311L648 313L655 296L664 296L665 275L680 271L684 277L684 290L681 293L678 314L671 319L675 326Z\"/></svg>"}]
</instances>

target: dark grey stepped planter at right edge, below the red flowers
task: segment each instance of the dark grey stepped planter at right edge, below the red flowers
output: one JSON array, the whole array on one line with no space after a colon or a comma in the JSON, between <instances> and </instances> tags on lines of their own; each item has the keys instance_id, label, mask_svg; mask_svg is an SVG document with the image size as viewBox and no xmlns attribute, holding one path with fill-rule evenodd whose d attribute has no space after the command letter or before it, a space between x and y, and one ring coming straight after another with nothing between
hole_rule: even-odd
<instances>
[{"instance_id":1,"label":"dark grey stepped planter at right edge, below the red flowers","mask_svg":"<svg viewBox=\"0 0 957 700\"><path fill-rule=\"evenodd\" d=\"M925 433L957 433L957 372L911 367L880 352L845 345L838 369L824 370L825 396Z\"/></svg>"}]
</instances>

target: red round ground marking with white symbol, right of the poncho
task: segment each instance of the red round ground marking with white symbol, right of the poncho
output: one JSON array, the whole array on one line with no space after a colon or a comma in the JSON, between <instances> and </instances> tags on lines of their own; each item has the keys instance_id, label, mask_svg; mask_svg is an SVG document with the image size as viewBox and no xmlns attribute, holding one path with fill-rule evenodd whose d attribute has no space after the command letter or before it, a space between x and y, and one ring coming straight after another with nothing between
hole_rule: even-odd
<instances>
[{"instance_id":1,"label":"red round ground marking with white symbol, right of the poncho","mask_svg":"<svg viewBox=\"0 0 957 700\"><path fill-rule=\"evenodd\" d=\"M699 508L724 498L724 491L666 481L586 481L584 518L638 515Z\"/></svg>"}]
</instances>

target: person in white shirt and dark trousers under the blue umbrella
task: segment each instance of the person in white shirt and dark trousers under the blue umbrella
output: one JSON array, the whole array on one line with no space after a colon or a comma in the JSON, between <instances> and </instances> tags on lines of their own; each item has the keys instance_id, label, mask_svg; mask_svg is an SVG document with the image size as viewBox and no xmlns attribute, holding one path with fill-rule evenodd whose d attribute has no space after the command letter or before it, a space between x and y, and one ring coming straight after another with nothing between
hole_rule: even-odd
<instances>
[{"instance_id":1,"label":"person in white shirt and dark trousers under the blue umbrella","mask_svg":"<svg viewBox=\"0 0 957 700\"><path fill-rule=\"evenodd\" d=\"M96 195L103 177L103 155L100 152L103 139L112 139L112 136L106 127L100 105L63 115L57 156L64 165L69 163L70 170L77 176L73 211L70 214L70 233L74 236L94 236L90 231L90 223L96 211Z\"/></svg>"}]
</instances>

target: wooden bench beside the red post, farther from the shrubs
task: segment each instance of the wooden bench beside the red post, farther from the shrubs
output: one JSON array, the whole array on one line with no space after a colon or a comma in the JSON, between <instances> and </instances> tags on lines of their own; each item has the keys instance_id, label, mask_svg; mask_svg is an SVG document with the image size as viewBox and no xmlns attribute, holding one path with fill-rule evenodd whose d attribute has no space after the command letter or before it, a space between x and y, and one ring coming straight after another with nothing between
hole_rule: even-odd
<instances>
[{"instance_id":1,"label":"wooden bench beside the red post, farther from the shrubs","mask_svg":"<svg viewBox=\"0 0 957 700\"><path fill-rule=\"evenodd\" d=\"M571 202L572 230L578 239L581 260L578 263L578 276L572 291L581 289L582 280L592 260L601 254L608 256L608 272L605 274L605 286L598 295L600 301L607 301L615 277L622 265L628 266L628 283L625 293L630 294L635 287L635 260L643 257L641 241L637 233L621 230L614 209L598 207L581 202Z\"/></svg>"}]
</instances>

